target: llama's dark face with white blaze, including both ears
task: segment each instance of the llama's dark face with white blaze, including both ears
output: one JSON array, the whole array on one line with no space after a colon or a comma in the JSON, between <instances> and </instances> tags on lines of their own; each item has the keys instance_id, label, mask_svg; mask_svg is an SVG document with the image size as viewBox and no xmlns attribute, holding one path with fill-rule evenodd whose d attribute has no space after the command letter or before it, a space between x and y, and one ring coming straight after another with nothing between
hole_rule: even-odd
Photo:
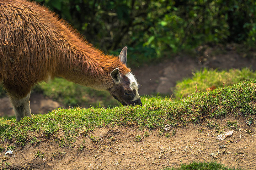
<instances>
[{"instance_id":1,"label":"llama's dark face with white blaze, including both ears","mask_svg":"<svg viewBox=\"0 0 256 170\"><path fill-rule=\"evenodd\" d=\"M127 47L124 47L119 55L119 60L126 64L126 58ZM116 100L124 106L142 104L138 93L138 83L132 73L128 72L122 75L116 68L112 70L110 75L114 85L109 89L109 92Z\"/></svg>"}]
</instances>

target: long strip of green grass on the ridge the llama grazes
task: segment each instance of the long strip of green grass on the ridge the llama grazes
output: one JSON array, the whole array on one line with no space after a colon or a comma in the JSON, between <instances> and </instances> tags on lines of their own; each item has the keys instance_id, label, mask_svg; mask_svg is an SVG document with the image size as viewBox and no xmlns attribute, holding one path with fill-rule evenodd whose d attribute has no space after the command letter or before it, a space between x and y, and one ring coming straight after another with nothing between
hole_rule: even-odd
<instances>
[{"instance_id":1,"label":"long strip of green grass on the ridge the llama grazes","mask_svg":"<svg viewBox=\"0 0 256 170\"><path fill-rule=\"evenodd\" d=\"M234 86L199 93L178 101L168 99L143 99L144 106L103 108L57 109L44 115L0 121L0 143L12 140L18 145L37 142L41 137L53 137L60 146L67 146L83 132L102 126L132 126L140 128L162 128L199 123L202 119L222 117L226 114L243 114L250 118L256 112L256 81L243 81ZM146 101L149 101L146 103ZM151 102L150 102L151 101ZM59 137L59 133L64 135ZM4 146L0 145L0 150Z\"/></svg>"}]
</instances>

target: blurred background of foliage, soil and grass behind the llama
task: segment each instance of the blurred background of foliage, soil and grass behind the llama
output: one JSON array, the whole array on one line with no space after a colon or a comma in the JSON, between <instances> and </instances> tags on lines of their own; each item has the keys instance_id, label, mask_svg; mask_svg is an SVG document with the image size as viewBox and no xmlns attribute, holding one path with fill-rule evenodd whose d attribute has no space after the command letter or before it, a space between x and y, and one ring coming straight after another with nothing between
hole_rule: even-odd
<instances>
[{"instance_id":1,"label":"blurred background of foliage, soil and grass behind the llama","mask_svg":"<svg viewBox=\"0 0 256 170\"><path fill-rule=\"evenodd\" d=\"M255 78L254 0L34 0L48 7L105 53L128 46L128 67L143 100L177 100ZM196 86L196 87L195 87ZM12 106L0 88L0 115ZM32 113L56 107L113 107L107 92L56 78L31 95ZM11 113L12 114L12 113Z\"/></svg>"}]
</instances>

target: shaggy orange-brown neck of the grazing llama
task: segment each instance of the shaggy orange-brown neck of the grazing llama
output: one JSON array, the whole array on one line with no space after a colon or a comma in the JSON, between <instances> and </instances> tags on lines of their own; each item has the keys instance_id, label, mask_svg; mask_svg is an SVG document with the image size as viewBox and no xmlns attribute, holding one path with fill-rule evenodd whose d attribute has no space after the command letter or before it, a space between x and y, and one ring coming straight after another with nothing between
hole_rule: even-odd
<instances>
[{"instance_id":1,"label":"shaggy orange-brown neck of the grazing llama","mask_svg":"<svg viewBox=\"0 0 256 170\"><path fill-rule=\"evenodd\" d=\"M119 68L120 73L130 71L116 56L104 55L100 50L92 47L81 35L66 24L58 21L55 45L59 47L59 55L55 66L56 75L68 81L90 86L95 89L106 90L110 83L110 73Z\"/></svg>"}]
</instances>

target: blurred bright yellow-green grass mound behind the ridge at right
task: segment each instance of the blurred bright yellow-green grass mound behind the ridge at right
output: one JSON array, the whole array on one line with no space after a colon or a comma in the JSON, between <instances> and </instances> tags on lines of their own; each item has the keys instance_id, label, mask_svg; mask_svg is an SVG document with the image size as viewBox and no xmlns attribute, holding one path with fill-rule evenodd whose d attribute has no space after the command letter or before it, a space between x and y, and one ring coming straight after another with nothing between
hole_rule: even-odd
<instances>
[{"instance_id":1,"label":"blurred bright yellow-green grass mound behind the ridge at right","mask_svg":"<svg viewBox=\"0 0 256 170\"><path fill-rule=\"evenodd\" d=\"M233 85L242 80L249 80L256 77L256 72L249 68L243 69L230 69L228 71L217 69L203 69L193 73L192 78L186 78L178 81L174 94L176 98L186 97L196 91L196 84L198 91L206 91L207 88L215 86L216 88L222 87L223 82L225 85Z\"/></svg>"}]
</instances>

